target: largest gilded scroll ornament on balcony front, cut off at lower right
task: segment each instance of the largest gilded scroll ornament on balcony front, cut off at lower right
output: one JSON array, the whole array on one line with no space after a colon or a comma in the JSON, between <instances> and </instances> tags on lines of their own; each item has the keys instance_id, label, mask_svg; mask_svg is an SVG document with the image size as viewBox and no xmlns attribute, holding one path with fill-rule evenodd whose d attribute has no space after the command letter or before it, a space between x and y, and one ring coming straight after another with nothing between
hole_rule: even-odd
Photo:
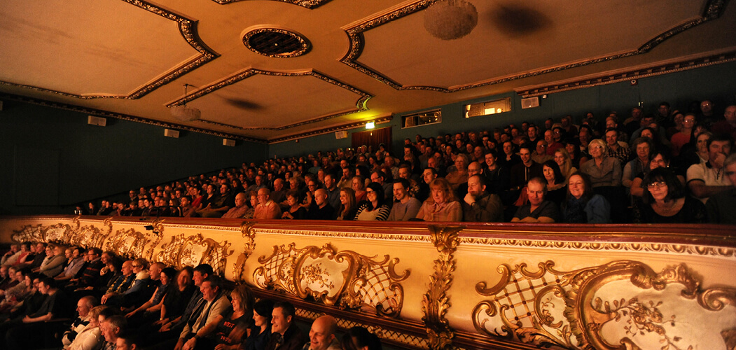
<instances>
[{"instance_id":1,"label":"largest gilded scroll ornament on balcony front, cut off at lower right","mask_svg":"<svg viewBox=\"0 0 736 350\"><path fill-rule=\"evenodd\" d=\"M731 349L736 289L701 290L684 264L659 274L629 260L569 272L553 265L500 265L496 285L479 282L492 299L475 306L475 329L567 349Z\"/></svg>"}]
</instances>

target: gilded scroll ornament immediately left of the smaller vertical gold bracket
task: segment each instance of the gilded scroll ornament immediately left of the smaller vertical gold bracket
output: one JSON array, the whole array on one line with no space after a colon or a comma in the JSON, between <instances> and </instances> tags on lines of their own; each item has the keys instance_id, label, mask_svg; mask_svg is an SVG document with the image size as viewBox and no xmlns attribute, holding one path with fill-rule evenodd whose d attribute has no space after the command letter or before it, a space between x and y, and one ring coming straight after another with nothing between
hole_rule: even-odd
<instances>
[{"instance_id":1,"label":"gilded scroll ornament immediately left of the smaller vertical gold bracket","mask_svg":"<svg viewBox=\"0 0 736 350\"><path fill-rule=\"evenodd\" d=\"M205 238L201 233L184 237L184 234L171 236L171 241L161 246L156 260L169 266L183 268L186 265L209 264L216 274L224 274L227 257L233 254L231 243L227 240L218 243Z\"/></svg>"}]
</instances>

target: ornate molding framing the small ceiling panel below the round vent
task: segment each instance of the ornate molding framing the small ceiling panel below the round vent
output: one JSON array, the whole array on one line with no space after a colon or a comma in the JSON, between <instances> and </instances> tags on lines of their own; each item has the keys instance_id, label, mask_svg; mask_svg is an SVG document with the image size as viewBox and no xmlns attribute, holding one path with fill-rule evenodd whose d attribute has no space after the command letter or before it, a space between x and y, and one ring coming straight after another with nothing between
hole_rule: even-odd
<instances>
[{"instance_id":1,"label":"ornate molding framing the small ceiling panel below the round vent","mask_svg":"<svg viewBox=\"0 0 736 350\"><path fill-rule=\"evenodd\" d=\"M364 112L368 110L368 107L366 106L369 99L371 99L373 96L369 95L369 93L366 93L362 90L359 90L358 88L353 87L352 85L347 85L344 82L339 82L335 79L330 78L329 76L325 76L324 74L320 74L316 71L308 70L308 71L300 71L300 72L280 72L280 71L264 71L262 69L256 69L256 68L247 68L243 71L239 71L236 74L233 74L231 76L227 76L226 78L220 80L219 82L214 82L213 84L207 85L204 88L201 88L194 93L189 94L188 96L183 97L182 99L178 99L176 101L170 102L169 104L166 104L166 107L174 107L181 104L186 104L188 102L194 101L195 99L199 99L202 96L207 95L208 93L213 93L216 90L219 90L221 88L226 87L227 85L233 85L236 82L240 82L243 79L247 79L250 76L255 76L257 74L267 75L267 76L314 76L317 79L323 80L325 82L328 82L332 85L335 85L339 88L343 88L345 90L348 90L352 93L355 93L357 95L360 95L361 98L358 99L358 101L355 103L355 110L349 110L346 112L337 112L332 113L329 115L323 115L319 118L310 119L308 121L300 121L299 123L294 124L288 124L284 126L278 126L275 128L270 127L242 127L242 126L234 126L230 124L222 124L218 123L216 121L207 121L199 119L200 122L206 123L206 124L213 124L218 126L225 126L230 127L233 129L238 130L284 130L284 129L291 129L297 126L307 125L307 124L313 124L313 123L319 123L320 121L327 121L332 118L337 118L342 115L352 114L355 112Z\"/></svg>"}]
</instances>

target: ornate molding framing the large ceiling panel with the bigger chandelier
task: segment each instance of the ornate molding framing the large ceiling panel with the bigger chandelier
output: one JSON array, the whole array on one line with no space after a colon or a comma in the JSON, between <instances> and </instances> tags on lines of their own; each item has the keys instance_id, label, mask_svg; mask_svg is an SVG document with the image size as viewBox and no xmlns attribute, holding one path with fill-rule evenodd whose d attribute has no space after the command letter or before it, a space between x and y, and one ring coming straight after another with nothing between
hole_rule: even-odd
<instances>
[{"instance_id":1,"label":"ornate molding framing the large ceiling panel with the bigger chandelier","mask_svg":"<svg viewBox=\"0 0 736 350\"><path fill-rule=\"evenodd\" d=\"M388 24L399 18L403 18L406 15L411 15L414 12L419 12L421 10L424 10L427 7L431 6L431 4L434 4L435 1L436 0L416 1L413 4L408 4L404 7L397 8L396 10L393 10L392 12L386 13L384 15L380 15L375 18L370 18L366 21L361 21L356 24L351 24L349 26L343 27L343 30L345 31L348 39L350 40L350 50L347 51L347 54L345 54L344 57L340 59L340 62L346 65L349 65L350 67L355 68L361 73L367 74L368 76L371 76L372 78L380 82L383 82L384 84L389 85L390 87L396 90L430 90L430 91L437 91L437 92L442 92L442 93L454 93L460 90L479 88L481 86L486 86L486 85L496 85L496 84L500 84L503 82L509 82L512 80L528 78L531 76L538 76L538 75L548 74L548 73L552 73L556 71L564 71L570 68L578 68L584 65L591 65L594 63L601 63L601 62L606 62L610 60L618 60L620 58L631 57L637 54L645 54L646 52L653 49L655 46L664 42L665 40L672 38L674 35L684 32L687 29L691 29L694 26L698 26L699 24L703 24L707 21L712 21L716 18L719 18L721 15L723 15L723 12L726 8L726 4L728 2L727 0L707 0L706 5L705 5L705 10L701 14L700 17L695 18L691 21L688 21L684 24L679 24L678 26L675 26L672 29L668 29L667 31L662 32L661 34L657 35L657 37L652 38L651 40L648 40L638 49L626 51L626 52L619 53L619 54L612 54L609 56L593 57L588 60L579 60L573 63L553 65L548 68L537 69L534 71L527 71L522 74L512 74L509 76L503 76L500 78L490 79L490 80L486 80L483 82L475 82L475 83L470 83L466 85L456 85L456 86L452 86L448 88L442 88L439 86L431 86L431 85L402 85L400 82L397 82L389 78L389 76L386 76L385 74L381 74L381 72L376 71L372 68L369 68L367 65L363 65L362 63L358 62L358 58L361 56L363 49L365 47L365 37L363 35L364 32L367 32L370 29L374 29L378 26L382 26L383 24Z\"/></svg>"}]
</instances>

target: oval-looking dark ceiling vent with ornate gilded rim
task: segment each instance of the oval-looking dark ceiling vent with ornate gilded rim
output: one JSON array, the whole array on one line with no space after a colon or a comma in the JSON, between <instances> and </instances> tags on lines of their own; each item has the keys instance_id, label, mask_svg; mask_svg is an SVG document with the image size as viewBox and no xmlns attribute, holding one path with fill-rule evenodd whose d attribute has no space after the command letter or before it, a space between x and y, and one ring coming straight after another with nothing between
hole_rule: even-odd
<instances>
[{"instance_id":1,"label":"oval-looking dark ceiling vent with ornate gilded rim","mask_svg":"<svg viewBox=\"0 0 736 350\"><path fill-rule=\"evenodd\" d=\"M276 28L251 30L243 36L243 43L251 51L277 58L301 56L310 49L309 40L302 35Z\"/></svg>"}]
</instances>

